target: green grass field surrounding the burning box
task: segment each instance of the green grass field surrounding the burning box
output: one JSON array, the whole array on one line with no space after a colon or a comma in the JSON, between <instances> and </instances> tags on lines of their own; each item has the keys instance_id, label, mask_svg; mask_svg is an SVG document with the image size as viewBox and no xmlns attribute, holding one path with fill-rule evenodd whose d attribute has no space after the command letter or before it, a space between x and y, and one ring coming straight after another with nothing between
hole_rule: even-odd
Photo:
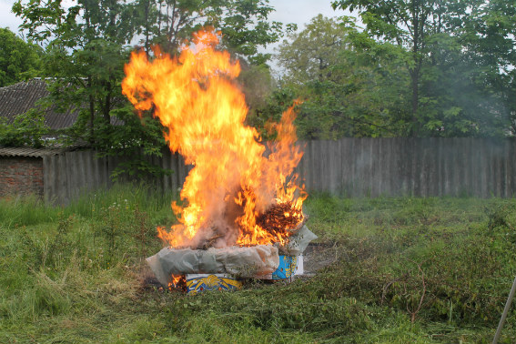
<instances>
[{"instance_id":1,"label":"green grass field surrounding the burning box","mask_svg":"<svg viewBox=\"0 0 516 344\"><path fill-rule=\"evenodd\" d=\"M0 343L490 343L516 275L514 199L311 195L338 252L313 278L190 297L144 288L173 195L0 200ZM502 343L516 341L516 305Z\"/></svg>"}]
</instances>

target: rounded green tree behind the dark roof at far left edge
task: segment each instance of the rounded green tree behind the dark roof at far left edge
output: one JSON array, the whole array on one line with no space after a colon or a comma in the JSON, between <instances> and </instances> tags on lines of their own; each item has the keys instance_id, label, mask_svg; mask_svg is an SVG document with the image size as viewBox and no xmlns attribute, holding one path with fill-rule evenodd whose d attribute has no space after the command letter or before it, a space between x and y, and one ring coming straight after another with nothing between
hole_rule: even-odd
<instances>
[{"instance_id":1,"label":"rounded green tree behind the dark roof at far left edge","mask_svg":"<svg viewBox=\"0 0 516 344\"><path fill-rule=\"evenodd\" d=\"M39 76L43 49L0 28L0 87Z\"/></svg>"}]
</instances>

